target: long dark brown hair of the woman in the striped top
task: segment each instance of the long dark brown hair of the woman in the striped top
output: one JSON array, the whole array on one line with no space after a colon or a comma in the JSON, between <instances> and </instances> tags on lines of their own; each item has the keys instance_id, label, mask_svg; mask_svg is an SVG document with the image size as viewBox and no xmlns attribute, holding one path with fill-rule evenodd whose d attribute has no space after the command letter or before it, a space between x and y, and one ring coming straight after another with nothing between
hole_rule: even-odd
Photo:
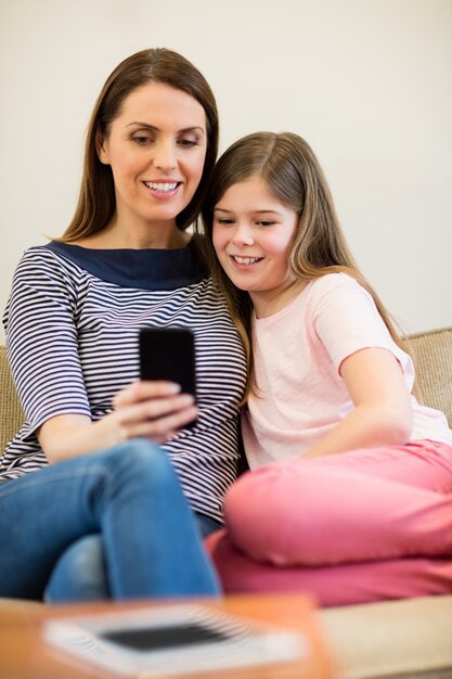
<instances>
[{"instance_id":1,"label":"long dark brown hair of the woman in the striped top","mask_svg":"<svg viewBox=\"0 0 452 679\"><path fill-rule=\"evenodd\" d=\"M142 50L122 61L102 88L88 126L78 204L63 236L55 240L70 243L101 231L112 219L116 208L115 185L112 168L99 159L96 136L108 136L127 97L148 82L163 82L182 90L205 111L207 151L203 175L192 201L176 220L181 230L196 222L218 152L217 104L207 80L191 62L177 52L157 48Z\"/></svg>"}]
</instances>

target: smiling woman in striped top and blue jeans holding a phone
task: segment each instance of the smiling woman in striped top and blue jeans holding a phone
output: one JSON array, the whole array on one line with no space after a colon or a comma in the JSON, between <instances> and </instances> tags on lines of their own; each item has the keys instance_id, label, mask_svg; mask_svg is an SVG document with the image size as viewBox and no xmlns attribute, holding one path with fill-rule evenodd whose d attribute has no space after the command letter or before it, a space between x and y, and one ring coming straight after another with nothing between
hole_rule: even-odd
<instances>
[{"instance_id":1,"label":"smiling woman in striped top and blue jeans holding a phone","mask_svg":"<svg viewBox=\"0 0 452 679\"><path fill-rule=\"evenodd\" d=\"M217 145L214 94L181 55L144 50L106 80L74 219L24 254L4 313L27 420L1 466L3 595L217 591L199 536L235 476L245 360L186 231ZM138 381L139 329L167 325L195 334L196 407Z\"/></svg>"}]
</instances>

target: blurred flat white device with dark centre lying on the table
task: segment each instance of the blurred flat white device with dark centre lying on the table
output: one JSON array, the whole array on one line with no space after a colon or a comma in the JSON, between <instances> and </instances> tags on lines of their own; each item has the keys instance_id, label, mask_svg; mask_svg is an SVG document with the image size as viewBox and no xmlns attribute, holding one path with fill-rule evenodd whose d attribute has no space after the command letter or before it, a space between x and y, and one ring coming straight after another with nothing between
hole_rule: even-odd
<instances>
[{"instance_id":1,"label":"blurred flat white device with dark centre lying on the table","mask_svg":"<svg viewBox=\"0 0 452 679\"><path fill-rule=\"evenodd\" d=\"M310 652L295 630L196 604L54 618L44 636L74 657L143 679L282 663Z\"/></svg>"}]
</instances>

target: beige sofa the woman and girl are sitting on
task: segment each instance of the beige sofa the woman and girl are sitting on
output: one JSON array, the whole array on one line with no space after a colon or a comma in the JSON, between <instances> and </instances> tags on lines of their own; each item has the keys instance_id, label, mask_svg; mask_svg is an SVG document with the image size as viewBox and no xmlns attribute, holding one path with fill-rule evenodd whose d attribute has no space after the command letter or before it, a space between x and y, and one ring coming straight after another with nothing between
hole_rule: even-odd
<instances>
[{"instance_id":1,"label":"beige sofa the woman and girl are sitting on","mask_svg":"<svg viewBox=\"0 0 452 679\"><path fill-rule=\"evenodd\" d=\"M416 366L417 398L442 410L452 426L452 328L404 342ZM23 421L4 347L0 384L3 450ZM452 584L447 595L323 608L318 615L343 679L452 679Z\"/></svg>"}]
</instances>

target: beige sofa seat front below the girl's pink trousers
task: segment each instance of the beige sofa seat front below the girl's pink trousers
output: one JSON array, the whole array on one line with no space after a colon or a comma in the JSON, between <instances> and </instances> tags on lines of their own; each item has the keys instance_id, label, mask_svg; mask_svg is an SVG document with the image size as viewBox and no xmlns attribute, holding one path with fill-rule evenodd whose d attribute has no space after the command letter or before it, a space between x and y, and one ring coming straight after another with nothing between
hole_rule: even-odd
<instances>
[{"instance_id":1,"label":"beige sofa seat front below the girl's pink trousers","mask_svg":"<svg viewBox=\"0 0 452 679\"><path fill-rule=\"evenodd\" d=\"M452 595L319 613L343 679L452 677Z\"/></svg>"}]
</instances>

